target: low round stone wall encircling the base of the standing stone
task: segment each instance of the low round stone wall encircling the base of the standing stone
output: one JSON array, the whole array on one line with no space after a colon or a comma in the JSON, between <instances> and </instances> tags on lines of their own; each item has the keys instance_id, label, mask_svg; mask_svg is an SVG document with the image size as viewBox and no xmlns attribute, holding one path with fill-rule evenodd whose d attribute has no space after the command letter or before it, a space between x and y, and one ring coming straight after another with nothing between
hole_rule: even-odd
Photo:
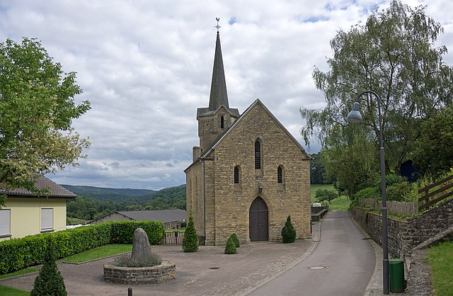
<instances>
[{"instance_id":1,"label":"low round stone wall encircling the base of the standing stone","mask_svg":"<svg viewBox=\"0 0 453 296\"><path fill-rule=\"evenodd\" d=\"M161 265L151 267L120 267L104 264L104 280L118 284L157 284L176 278L176 265L162 261Z\"/></svg>"}]
</instances>

